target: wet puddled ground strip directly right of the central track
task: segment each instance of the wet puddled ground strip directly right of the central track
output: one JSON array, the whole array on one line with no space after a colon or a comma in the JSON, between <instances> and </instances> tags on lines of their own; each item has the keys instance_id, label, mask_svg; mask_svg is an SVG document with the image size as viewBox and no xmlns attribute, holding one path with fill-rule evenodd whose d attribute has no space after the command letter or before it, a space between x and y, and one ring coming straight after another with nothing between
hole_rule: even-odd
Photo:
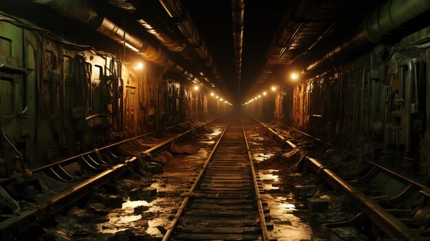
<instances>
[{"instance_id":1,"label":"wet puddled ground strip directly right of the central track","mask_svg":"<svg viewBox=\"0 0 430 241\"><path fill-rule=\"evenodd\" d=\"M260 126L245 126L245 130L262 181L262 198L269 205L270 222L273 222L269 236L280 241L311 240L308 212L297 209L301 205L295 200L294 186L297 182L312 181L312 176L297 181L292 168L295 160L281 156L285 152L281 144L267 137Z\"/></svg>"}]
</instances>

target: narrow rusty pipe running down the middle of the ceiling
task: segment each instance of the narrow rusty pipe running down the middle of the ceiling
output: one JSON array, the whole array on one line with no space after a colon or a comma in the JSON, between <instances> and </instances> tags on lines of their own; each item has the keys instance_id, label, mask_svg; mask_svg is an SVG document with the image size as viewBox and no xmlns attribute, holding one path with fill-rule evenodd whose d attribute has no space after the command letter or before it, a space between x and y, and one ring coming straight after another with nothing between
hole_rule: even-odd
<instances>
[{"instance_id":1,"label":"narrow rusty pipe running down the middle of the ceiling","mask_svg":"<svg viewBox=\"0 0 430 241\"><path fill-rule=\"evenodd\" d=\"M236 65L236 79L238 81L238 95L240 97L240 72L242 71L243 48L243 19L245 0L231 0L231 20L233 22L234 63Z\"/></svg>"}]
</instances>

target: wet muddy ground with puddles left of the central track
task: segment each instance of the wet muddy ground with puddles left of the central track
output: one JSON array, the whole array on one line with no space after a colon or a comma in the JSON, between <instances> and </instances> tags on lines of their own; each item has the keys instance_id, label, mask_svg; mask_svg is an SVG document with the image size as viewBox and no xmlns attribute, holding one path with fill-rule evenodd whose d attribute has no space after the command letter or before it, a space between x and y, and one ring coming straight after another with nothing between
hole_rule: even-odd
<instances>
[{"instance_id":1,"label":"wet muddy ground with puddles left of the central track","mask_svg":"<svg viewBox=\"0 0 430 241\"><path fill-rule=\"evenodd\" d=\"M40 239L161 240L224 126L212 124L157 154L166 163L158 174L129 172L95 190L87 203L56 216Z\"/></svg>"}]
</instances>

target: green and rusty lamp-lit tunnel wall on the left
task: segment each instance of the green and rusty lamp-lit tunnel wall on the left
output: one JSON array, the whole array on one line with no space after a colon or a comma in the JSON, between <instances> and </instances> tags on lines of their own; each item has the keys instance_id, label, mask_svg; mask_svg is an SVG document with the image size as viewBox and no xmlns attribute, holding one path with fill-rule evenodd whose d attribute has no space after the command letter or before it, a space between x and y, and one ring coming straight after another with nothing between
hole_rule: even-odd
<instances>
[{"instance_id":1,"label":"green and rusty lamp-lit tunnel wall on the left","mask_svg":"<svg viewBox=\"0 0 430 241\"><path fill-rule=\"evenodd\" d=\"M149 62L136 69L22 19L2 16L0 30L1 176L20 159L35 168L229 108Z\"/></svg>"}]
</instances>

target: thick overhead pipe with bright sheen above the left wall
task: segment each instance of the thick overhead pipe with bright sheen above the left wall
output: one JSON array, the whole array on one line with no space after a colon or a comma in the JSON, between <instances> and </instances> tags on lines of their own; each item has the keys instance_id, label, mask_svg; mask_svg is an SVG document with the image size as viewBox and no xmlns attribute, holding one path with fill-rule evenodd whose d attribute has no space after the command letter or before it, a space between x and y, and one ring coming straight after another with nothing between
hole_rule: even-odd
<instances>
[{"instance_id":1,"label":"thick overhead pipe with bright sheen above the left wall","mask_svg":"<svg viewBox=\"0 0 430 241\"><path fill-rule=\"evenodd\" d=\"M113 39L117 43L124 43L128 49L135 51L137 54L142 54L142 57L157 65L172 69L174 71L184 72L184 69L177 65L168 55L168 52L159 45L148 43L142 38L125 32L124 28L113 23L113 21L102 16L95 10L89 7L87 1L84 0L34 0L34 3L48 5L56 12L68 16L73 19L79 19L84 23L88 23L95 29Z\"/></svg>"}]
</instances>

